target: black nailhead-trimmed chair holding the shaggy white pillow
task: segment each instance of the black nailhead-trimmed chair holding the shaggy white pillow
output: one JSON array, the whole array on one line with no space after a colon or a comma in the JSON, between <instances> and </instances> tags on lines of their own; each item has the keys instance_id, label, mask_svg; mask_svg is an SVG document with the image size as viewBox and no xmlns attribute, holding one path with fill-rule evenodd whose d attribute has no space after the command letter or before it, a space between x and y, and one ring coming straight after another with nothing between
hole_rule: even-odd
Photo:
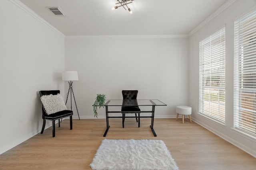
<instances>
[{"instance_id":1,"label":"black nailhead-trimmed chair holding the shaggy white pillow","mask_svg":"<svg viewBox=\"0 0 256 170\"><path fill-rule=\"evenodd\" d=\"M42 90L39 91L40 96L44 96L44 95L56 95L60 93L60 90ZM52 114L47 114L44 106L42 106L42 118L44 120L43 122L43 127L42 127L42 131L41 134L44 132L44 127L45 127L45 123L46 120L50 120L52 121L52 137L55 137L55 120L59 120L59 127L60 127L60 119L64 118L64 117L70 117L70 130L72 130L72 115L73 115L73 111L72 110L63 110L63 111L58 111L56 113L52 113Z\"/></svg>"}]
</instances>

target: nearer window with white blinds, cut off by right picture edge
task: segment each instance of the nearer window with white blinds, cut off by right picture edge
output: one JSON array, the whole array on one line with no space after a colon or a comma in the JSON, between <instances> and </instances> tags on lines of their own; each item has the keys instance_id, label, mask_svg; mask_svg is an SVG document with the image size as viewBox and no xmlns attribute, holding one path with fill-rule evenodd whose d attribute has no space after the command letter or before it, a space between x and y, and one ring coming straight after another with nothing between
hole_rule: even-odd
<instances>
[{"instance_id":1,"label":"nearer window with white blinds, cut off by right picture edge","mask_svg":"<svg viewBox=\"0 0 256 170\"><path fill-rule=\"evenodd\" d=\"M256 136L256 10L234 22L234 128Z\"/></svg>"}]
</instances>

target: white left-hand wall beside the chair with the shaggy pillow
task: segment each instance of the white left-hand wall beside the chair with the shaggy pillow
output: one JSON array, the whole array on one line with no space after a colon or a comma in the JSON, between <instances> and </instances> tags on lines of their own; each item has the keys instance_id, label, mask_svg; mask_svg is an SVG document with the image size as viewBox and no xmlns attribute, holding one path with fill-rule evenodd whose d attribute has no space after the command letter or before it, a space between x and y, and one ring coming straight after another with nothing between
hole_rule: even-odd
<instances>
[{"instance_id":1,"label":"white left-hand wall beside the chair with the shaggy pillow","mask_svg":"<svg viewBox=\"0 0 256 170\"><path fill-rule=\"evenodd\" d=\"M28 12L0 0L0 154L41 130L39 90L64 94L64 37Z\"/></svg>"}]
</instances>

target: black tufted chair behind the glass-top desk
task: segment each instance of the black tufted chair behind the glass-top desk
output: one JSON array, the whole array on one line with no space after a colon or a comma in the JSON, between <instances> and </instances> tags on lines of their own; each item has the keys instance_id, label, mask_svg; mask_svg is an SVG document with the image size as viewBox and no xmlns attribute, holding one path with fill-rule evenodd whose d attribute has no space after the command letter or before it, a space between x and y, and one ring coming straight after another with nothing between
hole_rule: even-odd
<instances>
[{"instance_id":1,"label":"black tufted chair behind the glass-top desk","mask_svg":"<svg viewBox=\"0 0 256 170\"><path fill-rule=\"evenodd\" d=\"M122 113L122 123L124 128L124 119L126 113L135 113L136 121L138 122L138 127L140 127L140 108L136 105L137 103L137 96L138 96L138 90L122 90L123 95L123 105L125 104L131 104L134 106L122 106L121 111L124 111L125 113ZM137 116L138 113L138 116Z\"/></svg>"}]
</instances>

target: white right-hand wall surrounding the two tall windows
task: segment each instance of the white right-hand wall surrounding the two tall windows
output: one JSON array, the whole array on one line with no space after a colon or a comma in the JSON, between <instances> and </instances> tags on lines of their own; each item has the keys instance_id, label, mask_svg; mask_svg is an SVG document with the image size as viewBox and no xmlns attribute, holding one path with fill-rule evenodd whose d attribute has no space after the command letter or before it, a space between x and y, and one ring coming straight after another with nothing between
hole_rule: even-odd
<instances>
[{"instance_id":1,"label":"white right-hand wall surrounding the two tall windows","mask_svg":"<svg viewBox=\"0 0 256 170\"><path fill-rule=\"evenodd\" d=\"M256 9L255 0L237 0L229 8L189 38L189 105L192 106L192 118L200 125L240 147L256 157L256 138L244 136L233 128L233 70L234 70L234 20L244 12ZM210 121L198 113L199 82L199 42L226 24L226 125Z\"/></svg>"}]
</instances>

